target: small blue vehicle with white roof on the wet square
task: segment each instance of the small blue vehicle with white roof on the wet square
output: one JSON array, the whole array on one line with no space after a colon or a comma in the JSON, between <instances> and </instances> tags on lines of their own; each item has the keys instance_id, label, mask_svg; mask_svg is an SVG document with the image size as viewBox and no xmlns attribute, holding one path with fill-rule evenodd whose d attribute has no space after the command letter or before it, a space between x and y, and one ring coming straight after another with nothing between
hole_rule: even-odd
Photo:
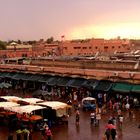
<instances>
[{"instance_id":1,"label":"small blue vehicle with white roof on the wet square","mask_svg":"<svg viewBox=\"0 0 140 140\"><path fill-rule=\"evenodd\" d=\"M96 99L92 97L86 97L82 99L83 110L96 110Z\"/></svg>"}]
</instances>

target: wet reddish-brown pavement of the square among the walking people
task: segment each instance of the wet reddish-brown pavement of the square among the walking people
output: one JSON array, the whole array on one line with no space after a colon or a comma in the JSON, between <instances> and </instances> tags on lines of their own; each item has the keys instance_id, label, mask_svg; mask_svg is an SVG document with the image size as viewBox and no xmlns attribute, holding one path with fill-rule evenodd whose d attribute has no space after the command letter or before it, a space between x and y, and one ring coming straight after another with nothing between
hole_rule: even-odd
<instances>
[{"instance_id":1,"label":"wet reddish-brown pavement of the square among the walking people","mask_svg":"<svg viewBox=\"0 0 140 140\"><path fill-rule=\"evenodd\" d=\"M102 140L105 132L105 125L112 112L102 116L98 127L90 124L90 112L80 110L80 125L75 125L75 112L69 117L68 125L53 126L53 140ZM117 127L118 140L139 140L140 129L140 110L134 111L135 117L129 118L127 112L124 112L124 123L122 130ZM7 127L0 127L0 140L7 140L9 135ZM16 136L14 134L14 140ZM35 132L33 140L42 140L41 133Z\"/></svg>"}]
</instances>

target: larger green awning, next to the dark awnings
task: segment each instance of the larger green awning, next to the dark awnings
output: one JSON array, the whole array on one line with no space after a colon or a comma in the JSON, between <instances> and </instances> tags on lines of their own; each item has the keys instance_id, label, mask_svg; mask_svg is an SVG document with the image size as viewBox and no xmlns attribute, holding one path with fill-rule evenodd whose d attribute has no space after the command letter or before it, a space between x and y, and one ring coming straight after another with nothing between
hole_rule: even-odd
<instances>
[{"instance_id":1,"label":"larger green awning, next to the dark awnings","mask_svg":"<svg viewBox=\"0 0 140 140\"><path fill-rule=\"evenodd\" d=\"M132 89L132 85L129 83L114 83L112 86L112 90L116 92L130 92Z\"/></svg>"}]
</instances>

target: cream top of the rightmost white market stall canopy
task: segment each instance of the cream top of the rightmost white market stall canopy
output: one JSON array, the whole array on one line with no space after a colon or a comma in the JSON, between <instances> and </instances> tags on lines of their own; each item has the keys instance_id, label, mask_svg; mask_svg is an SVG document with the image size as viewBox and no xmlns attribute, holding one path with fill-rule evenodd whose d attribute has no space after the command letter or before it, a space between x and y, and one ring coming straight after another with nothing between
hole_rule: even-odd
<instances>
[{"instance_id":1,"label":"cream top of the rightmost white market stall canopy","mask_svg":"<svg viewBox=\"0 0 140 140\"><path fill-rule=\"evenodd\" d=\"M45 102L38 103L38 105L48 106L55 110L67 107L66 103L62 103L58 101L45 101Z\"/></svg>"}]
</instances>

